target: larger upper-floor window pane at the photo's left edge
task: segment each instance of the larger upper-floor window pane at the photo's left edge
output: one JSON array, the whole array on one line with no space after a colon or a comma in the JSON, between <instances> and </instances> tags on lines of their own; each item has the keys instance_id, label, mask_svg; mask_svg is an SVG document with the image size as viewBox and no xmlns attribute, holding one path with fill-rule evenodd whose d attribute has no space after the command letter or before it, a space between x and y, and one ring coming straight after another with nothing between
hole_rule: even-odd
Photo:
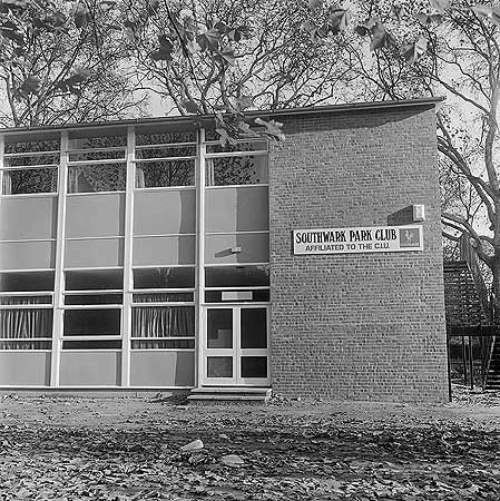
<instances>
[{"instance_id":1,"label":"larger upper-floor window pane at the photo's left edge","mask_svg":"<svg viewBox=\"0 0 500 501\"><path fill-rule=\"evenodd\" d=\"M2 195L57 191L57 168L3 170Z\"/></svg>"}]
</instances>

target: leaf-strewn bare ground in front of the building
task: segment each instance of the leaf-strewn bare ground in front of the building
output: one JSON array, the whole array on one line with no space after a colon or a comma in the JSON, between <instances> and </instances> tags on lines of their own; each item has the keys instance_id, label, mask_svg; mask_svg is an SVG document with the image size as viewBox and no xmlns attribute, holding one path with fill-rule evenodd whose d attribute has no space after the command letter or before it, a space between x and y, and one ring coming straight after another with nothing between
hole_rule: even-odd
<instances>
[{"instance_id":1,"label":"leaf-strewn bare ground in front of the building","mask_svg":"<svg viewBox=\"0 0 500 501\"><path fill-rule=\"evenodd\" d=\"M3 394L0 500L498 500L500 395L454 394L428 406Z\"/></svg>"}]
</instances>

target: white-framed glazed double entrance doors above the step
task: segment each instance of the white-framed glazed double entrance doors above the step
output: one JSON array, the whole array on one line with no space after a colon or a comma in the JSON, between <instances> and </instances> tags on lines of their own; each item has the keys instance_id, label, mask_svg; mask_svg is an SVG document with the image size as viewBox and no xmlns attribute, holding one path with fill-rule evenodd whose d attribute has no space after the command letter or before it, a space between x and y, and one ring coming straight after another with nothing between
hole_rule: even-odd
<instances>
[{"instance_id":1,"label":"white-framed glazed double entrance doors above the step","mask_svg":"<svg viewBox=\"0 0 500 501\"><path fill-rule=\"evenodd\" d=\"M204 327L203 384L269 384L267 306L210 306Z\"/></svg>"}]
</instances>

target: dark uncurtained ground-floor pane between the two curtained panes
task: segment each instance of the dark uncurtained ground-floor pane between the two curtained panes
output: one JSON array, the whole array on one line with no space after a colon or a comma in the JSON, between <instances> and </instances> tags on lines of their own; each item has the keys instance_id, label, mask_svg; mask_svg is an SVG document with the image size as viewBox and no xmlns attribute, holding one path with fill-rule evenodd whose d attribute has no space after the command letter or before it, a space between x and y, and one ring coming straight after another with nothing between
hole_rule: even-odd
<instances>
[{"instance_id":1,"label":"dark uncurtained ground-floor pane between the two curtained panes","mask_svg":"<svg viewBox=\"0 0 500 501\"><path fill-rule=\"evenodd\" d=\"M120 334L119 310L67 310L65 336L112 336Z\"/></svg>"}]
</instances>

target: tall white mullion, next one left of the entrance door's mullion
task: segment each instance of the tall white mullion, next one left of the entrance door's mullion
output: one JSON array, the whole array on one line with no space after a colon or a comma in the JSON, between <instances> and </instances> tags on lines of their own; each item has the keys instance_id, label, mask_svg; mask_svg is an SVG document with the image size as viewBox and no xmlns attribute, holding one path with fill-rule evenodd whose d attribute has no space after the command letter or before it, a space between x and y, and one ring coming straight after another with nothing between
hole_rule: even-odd
<instances>
[{"instance_id":1,"label":"tall white mullion, next one left of the entrance door's mullion","mask_svg":"<svg viewBox=\"0 0 500 501\"><path fill-rule=\"evenodd\" d=\"M136 134L134 126L127 127L127 179L125 184L125 244L124 244L124 305L121 310L121 386L130 385L130 347L131 347L131 291L133 244L134 244L134 188L136 169L134 164Z\"/></svg>"}]
</instances>

